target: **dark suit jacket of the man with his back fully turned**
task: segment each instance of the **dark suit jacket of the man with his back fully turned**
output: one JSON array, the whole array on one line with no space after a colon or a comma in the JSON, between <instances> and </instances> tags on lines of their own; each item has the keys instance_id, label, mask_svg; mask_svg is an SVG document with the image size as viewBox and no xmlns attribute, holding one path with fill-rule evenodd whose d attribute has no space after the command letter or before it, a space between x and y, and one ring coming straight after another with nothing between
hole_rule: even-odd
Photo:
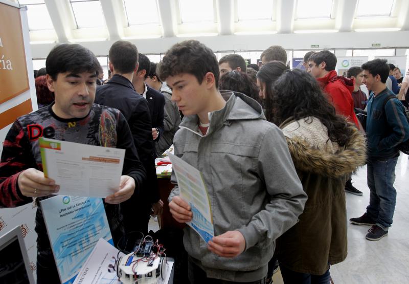
<instances>
[{"instance_id":1,"label":"dark suit jacket of the man with his back fully turned","mask_svg":"<svg viewBox=\"0 0 409 284\"><path fill-rule=\"evenodd\" d=\"M115 107L128 121L133 142L145 167L147 180L142 187L140 201L156 203L159 200L157 186L152 122L149 106L144 97L138 95L132 83L124 76L115 74L105 84L97 86L95 103Z\"/></svg>"}]
</instances>

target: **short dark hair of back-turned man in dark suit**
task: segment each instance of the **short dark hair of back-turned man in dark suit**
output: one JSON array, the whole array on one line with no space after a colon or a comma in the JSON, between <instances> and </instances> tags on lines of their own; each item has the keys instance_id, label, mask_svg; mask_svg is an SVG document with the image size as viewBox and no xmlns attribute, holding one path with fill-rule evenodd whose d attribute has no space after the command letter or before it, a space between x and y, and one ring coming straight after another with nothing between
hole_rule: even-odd
<instances>
[{"instance_id":1,"label":"short dark hair of back-turned man in dark suit","mask_svg":"<svg viewBox=\"0 0 409 284\"><path fill-rule=\"evenodd\" d=\"M137 68L138 49L129 41L118 40L109 49L108 58L118 73L131 73Z\"/></svg>"}]
</instances>

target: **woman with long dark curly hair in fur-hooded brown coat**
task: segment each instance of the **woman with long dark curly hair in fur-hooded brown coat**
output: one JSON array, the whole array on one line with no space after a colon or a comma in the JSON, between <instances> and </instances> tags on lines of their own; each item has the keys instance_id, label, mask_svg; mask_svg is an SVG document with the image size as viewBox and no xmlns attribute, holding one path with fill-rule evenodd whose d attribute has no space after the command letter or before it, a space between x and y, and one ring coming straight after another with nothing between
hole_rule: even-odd
<instances>
[{"instance_id":1,"label":"woman with long dark curly hair in fur-hooded brown coat","mask_svg":"<svg viewBox=\"0 0 409 284\"><path fill-rule=\"evenodd\" d=\"M302 70L287 70L265 100L277 124L308 200L300 222L277 239L276 255L285 283L329 283L331 264L347 256L345 181L365 164L365 138Z\"/></svg>"}]
</instances>

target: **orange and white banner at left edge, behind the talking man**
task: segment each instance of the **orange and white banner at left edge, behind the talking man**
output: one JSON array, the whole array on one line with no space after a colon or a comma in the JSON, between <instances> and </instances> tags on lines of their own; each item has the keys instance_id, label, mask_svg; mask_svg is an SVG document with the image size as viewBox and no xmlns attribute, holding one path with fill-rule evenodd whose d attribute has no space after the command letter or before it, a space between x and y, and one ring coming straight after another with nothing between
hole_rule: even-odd
<instances>
[{"instance_id":1,"label":"orange and white banner at left edge, behind the talking man","mask_svg":"<svg viewBox=\"0 0 409 284\"><path fill-rule=\"evenodd\" d=\"M0 0L0 154L11 124L19 116L37 110L27 9ZM7 29L3 29L7 27ZM0 209L0 237L19 226L36 278L37 234L35 201L24 206Z\"/></svg>"}]
</instances>

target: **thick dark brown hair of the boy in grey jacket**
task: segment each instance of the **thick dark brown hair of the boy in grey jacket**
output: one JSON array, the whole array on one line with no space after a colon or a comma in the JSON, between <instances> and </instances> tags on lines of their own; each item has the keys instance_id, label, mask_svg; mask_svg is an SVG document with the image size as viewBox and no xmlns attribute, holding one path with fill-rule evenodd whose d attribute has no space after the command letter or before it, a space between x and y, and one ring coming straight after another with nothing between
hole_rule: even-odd
<instances>
[{"instance_id":1,"label":"thick dark brown hair of the boy in grey jacket","mask_svg":"<svg viewBox=\"0 0 409 284\"><path fill-rule=\"evenodd\" d=\"M219 82L219 64L213 51L197 40L185 40L172 46L158 64L158 74L166 81L169 76L181 73L192 74L199 84L206 73L211 72L217 88Z\"/></svg>"}]
</instances>

